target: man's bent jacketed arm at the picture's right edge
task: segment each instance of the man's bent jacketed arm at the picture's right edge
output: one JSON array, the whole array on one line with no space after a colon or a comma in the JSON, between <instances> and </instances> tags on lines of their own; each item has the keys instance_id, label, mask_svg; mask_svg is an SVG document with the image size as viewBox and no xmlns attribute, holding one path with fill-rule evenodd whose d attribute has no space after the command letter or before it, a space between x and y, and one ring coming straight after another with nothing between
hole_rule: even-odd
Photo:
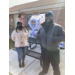
<instances>
[{"instance_id":1,"label":"man's bent jacketed arm at the picture's right edge","mask_svg":"<svg viewBox=\"0 0 75 75\"><path fill-rule=\"evenodd\" d=\"M62 27L59 28L59 36L58 37L53 37L54 42L62 42L65 41L65 31Z\"/></svg>"}]
</instances>

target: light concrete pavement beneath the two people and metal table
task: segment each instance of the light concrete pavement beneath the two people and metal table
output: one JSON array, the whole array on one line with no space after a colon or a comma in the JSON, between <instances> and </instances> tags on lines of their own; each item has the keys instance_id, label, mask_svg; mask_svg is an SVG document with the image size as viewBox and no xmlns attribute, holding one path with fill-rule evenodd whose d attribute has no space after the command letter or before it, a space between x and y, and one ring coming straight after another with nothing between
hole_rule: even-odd
<instances>
[{"instance_id":1,"label":"light concrete pavement beneath the two people and metal table","mask_svg":"<svg viewBox=\"0 0 75 75\"><path fill-rule=\"evenodd\" d=\"M40 47L34 49L34 51L41 52ZM65 50L60 51L60 71L61 75L65 75ZM38 75L42 70L40 61L38 59L26 56L26 66L24 68L18 67L17 52L9 50L9 72L13 75ZM50 66L47 75L53 75L52 67Z\"/></svg>"}]
</instances>

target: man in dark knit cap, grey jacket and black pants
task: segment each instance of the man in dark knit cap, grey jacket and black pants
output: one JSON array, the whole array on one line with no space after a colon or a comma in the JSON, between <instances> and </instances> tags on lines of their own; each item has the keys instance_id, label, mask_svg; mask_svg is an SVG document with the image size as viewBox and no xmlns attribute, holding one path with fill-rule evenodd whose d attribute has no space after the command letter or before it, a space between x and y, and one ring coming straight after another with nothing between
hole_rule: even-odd
<instances>
[{"instance_id":1,"label":"man in dark knit cap, grey jacket and black pants","mask_svg":"<svg viewBox=\"0 0 75 75\"><path fill-rule=\"evenodd\" d=\"M43 70L39 75L44 75L48 72L50 63L53 67L54 75L60 75L59 43L65 41L65 31L61 26L54 24L53 18L54 15L52 11L46 12L45 22L41 24L42 27L38 32L43 59Z\"/></svg>"}]
</instances>

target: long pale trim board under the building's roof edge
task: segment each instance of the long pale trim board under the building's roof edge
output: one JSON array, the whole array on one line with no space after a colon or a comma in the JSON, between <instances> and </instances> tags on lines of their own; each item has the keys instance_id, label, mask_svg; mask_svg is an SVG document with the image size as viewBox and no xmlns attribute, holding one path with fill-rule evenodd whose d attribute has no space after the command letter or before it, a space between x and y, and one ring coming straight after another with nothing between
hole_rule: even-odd
<instances>
[{"instance_id":1,"label":"long pale trim board under the building's roof edge","mask_svg":"<svg viewBox=\"0 0 75 75\"><path fill-rule=\"evenodd\" d=\"M64 6L65 6L65 3L59 3L59 4L46 5L46 6L40 6L40 7L35 7L35 8L22 9L19 11L9 12L9 14L17 14L17 13L23 13L23 12L52 9L52 8L57 8L57 7L60 8L60 7L64 7Z\"/></svg>"}]
</instances>

